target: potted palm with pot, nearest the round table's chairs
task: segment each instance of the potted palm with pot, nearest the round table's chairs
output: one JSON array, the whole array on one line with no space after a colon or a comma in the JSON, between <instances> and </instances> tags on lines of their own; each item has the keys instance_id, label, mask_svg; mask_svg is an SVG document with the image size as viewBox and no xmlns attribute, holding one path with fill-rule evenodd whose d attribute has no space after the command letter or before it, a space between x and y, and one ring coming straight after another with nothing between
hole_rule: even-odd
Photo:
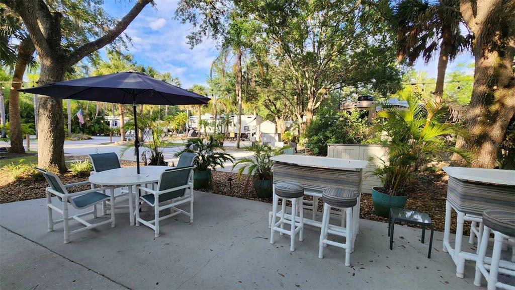
<instances>
[{"instance_id":1,"label":"potted palm with pot, nearest the round table's chairs","mask_svg":"<svg viewBox=\"0 0 515 290\"><path fill-rule=\"evenodd\" d=\"M234 157L227 153L213 136L209 136L207 140L201 138L188 139L184 149L177 152L175 156L179 157L183 152L197 153L198 155L193 162L195 166L193 173L195 189L210 186L211 170L215 170L217 166L224 168L228 161L234 163Z\"/></svg>"}]
</instances>

